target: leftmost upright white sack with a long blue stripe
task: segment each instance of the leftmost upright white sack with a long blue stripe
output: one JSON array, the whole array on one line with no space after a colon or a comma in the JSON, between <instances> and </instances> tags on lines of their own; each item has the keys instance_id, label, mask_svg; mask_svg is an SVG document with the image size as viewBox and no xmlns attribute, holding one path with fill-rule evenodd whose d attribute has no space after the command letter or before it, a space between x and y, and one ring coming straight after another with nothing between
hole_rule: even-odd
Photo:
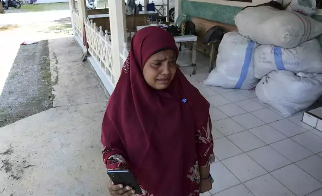
<instances>
[{"instance_id":1,"label":"leftmost upright white sack with a long blue stripe","mask_svg":"<svg viewBox=\"0 0 322 196\"><path fill-rule=\"evenodd\" d=\"M205 85L223 88L251 89L258 79L254 76L253 55L258 46L238 32L224 35L216 61L216 68L204 81Z\"/></svg>"}]
</instances>

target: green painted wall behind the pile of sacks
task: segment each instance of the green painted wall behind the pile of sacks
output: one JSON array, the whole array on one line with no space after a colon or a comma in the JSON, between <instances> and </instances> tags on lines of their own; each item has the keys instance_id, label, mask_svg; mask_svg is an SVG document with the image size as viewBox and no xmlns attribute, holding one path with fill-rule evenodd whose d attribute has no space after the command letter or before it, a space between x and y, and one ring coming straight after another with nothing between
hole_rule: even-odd
<instances>
[{"instance_id":1,"label":"green painted wall behind the pile of sacks","mask_svg":"<svg viewBox=\"0 0 322 196\"><path fill-rule=\"evenodd\" d=\"M187 20L192 17L201 17L234 25L234 17L241 9L242 7L182 0L182 13L187 15ZM322 22L322 16L317 15L313 18ZM318 40L322 45L322 36L319 36Z\"/></svg>"}]
</instances>

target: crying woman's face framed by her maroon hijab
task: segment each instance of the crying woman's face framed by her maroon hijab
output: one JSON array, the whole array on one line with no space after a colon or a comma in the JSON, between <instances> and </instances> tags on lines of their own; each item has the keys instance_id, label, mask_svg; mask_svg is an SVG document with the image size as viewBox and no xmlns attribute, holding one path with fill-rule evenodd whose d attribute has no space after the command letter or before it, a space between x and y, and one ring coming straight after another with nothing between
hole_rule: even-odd
<instances>
[{"instance_id":1,"label":"crying woman's face framed by her maroon hijab","mask_svg":"<svg viewBox=\"0 0 322 196\"><path fill-rule=\"evenodd\" d=\"M165 50L152 55L143 67L146 83L156 90L167 88L176 73L176 53Z\"/></svg>"}]
</instances>

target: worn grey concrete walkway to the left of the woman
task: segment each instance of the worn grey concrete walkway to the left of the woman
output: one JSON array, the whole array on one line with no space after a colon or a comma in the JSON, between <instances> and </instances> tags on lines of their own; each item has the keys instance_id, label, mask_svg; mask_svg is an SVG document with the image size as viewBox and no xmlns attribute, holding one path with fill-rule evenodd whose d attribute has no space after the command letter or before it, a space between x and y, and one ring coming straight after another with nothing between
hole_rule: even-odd
<instances>
[{"instance_id":1,"label":"worn grey concrete walkway to the left of the woman","mask_svg":"<svg viewBox=\"0 0 322 196\"><path fill-rule=\"evenodd\" d=\"M72 37L49 40L54 108L0 129L0 195L108 195L107 97Z\"/></svg>"}]
</instances>

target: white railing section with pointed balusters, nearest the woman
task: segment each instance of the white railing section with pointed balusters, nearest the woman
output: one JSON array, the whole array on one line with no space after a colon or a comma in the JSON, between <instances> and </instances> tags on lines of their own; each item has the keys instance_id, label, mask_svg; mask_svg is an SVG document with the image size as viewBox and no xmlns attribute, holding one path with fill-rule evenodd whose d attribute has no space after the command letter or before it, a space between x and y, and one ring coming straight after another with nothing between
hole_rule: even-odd
<instances>
[{"instance_id":1,"label":"white railing section with pointed balusters, nearest the woman","mask_svg":"<svg viewBox=\"0 0 322 196\"><path fill-rule=\"evenodd\" d=\"M112 56L112 42L108 31L97 27L93 20L85 19L85 31L88 43L88 52L95 59L109 82L115 86L115 75Z\"/></svg>"}]
</instances>

